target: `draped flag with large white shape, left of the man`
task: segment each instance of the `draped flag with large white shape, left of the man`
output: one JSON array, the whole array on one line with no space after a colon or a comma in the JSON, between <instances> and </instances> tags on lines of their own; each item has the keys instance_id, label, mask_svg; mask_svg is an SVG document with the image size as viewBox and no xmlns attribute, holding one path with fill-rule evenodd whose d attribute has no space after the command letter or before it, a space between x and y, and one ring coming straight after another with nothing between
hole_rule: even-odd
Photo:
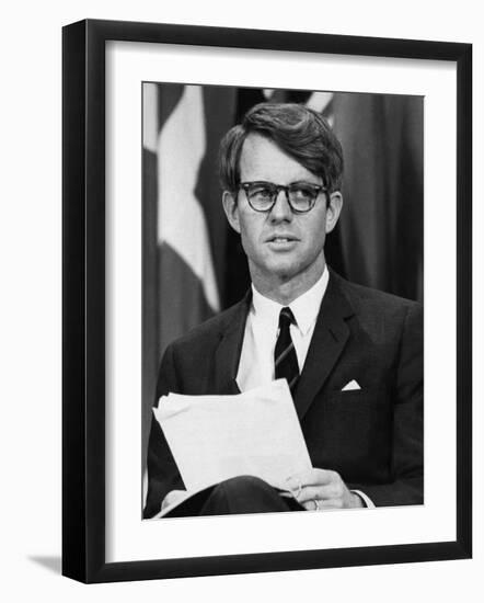
<instances>
[{"instance_id":1,"label":"draped flag with large white shape, left of the man","mask_svg":"<svg viewBox=\"0 0 484 603\"><path fill-rule=\"evenodd\" d=\"M161 356L221 308L227 225L217 175L235 91L143 83L143 454Z\"/></svg>"}]
</instances>

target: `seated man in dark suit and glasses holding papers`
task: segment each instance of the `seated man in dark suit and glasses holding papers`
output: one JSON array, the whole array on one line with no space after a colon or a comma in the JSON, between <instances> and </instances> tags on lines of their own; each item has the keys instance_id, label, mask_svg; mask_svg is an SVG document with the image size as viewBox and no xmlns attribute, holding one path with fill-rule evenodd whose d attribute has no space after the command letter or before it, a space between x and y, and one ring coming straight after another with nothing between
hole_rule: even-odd
<instances>
[{"instance_id":1,"label":"seated man in dark suit and glasses holding papers","mask_svg":"<svg viewBox=\"0 0 484 603\"><path fill-rule=\"evenodd\" d=\"M242 477L186 514L420 504L422 307L326 266L325 237L343 204L338 140L312 110L263 103L222 140L220 170L252 287L168 348L157 400L169 391L238 394L286 377L313 468L287 476L296 504ZM146 517L184 490L155 420L148 471Z\"/></svg>"}]
</instances>

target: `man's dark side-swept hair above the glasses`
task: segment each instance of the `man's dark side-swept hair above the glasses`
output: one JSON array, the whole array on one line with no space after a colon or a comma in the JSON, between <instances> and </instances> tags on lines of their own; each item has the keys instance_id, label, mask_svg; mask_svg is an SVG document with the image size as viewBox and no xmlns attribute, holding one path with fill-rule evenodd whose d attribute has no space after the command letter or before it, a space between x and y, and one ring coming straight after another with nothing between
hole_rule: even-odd
<instances>
[{"instance_id":1,"label":"man's dark side-swept hair above the glasses","mask_svg":"<svg viewBox=\"0 0 484 603\"><path fill-rule=\"evenodd\" d=\"M329 192L338 191L343 178L343 150L324 117L302 104L260 103L233 126L220 143L219 170L223 190L240 183L240 156L250 134L272 140L314 175Z\"/></svg>"}]
</instances>

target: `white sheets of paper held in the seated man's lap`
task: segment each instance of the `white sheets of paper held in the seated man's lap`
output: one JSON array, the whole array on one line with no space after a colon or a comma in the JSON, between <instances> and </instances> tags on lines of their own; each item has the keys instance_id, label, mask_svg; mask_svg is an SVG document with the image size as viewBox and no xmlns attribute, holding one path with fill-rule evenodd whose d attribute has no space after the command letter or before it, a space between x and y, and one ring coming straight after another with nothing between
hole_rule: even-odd
<instances>
[{"instance_id":1,"label":"white sheets of paper held in the seated man's lap","mask_svg":"<svg viewBox=\"0 0 484 603\"><path fill-rule=\"evenodd\" d=\"M286 379L237 396L169 394L153 412L189 491L240 475L285 489L311 468Z\"/></svg>"}]
</instances>

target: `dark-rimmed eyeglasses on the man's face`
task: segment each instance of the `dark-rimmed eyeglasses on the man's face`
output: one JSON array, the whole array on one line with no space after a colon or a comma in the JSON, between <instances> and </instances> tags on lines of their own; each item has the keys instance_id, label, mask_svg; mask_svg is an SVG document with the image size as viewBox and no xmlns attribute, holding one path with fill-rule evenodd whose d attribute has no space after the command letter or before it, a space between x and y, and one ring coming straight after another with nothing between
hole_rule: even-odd
<instances>
[{"instance_id":1,"label":"dark-rimmed eyeglasses on the man's face","mask_svg":"<svg viewBox=\"0 0 484 603\"><path fill-rule=\"evenodd\" d=\"M245 191L249 205L254 212L270 212L279 192L284 191L293 214L310 212L314 207L318 195L327 190L325 186L310 182L292 182L287 186L273 182L241 182L239 186Z\"/></svg>"}]
</instances>

